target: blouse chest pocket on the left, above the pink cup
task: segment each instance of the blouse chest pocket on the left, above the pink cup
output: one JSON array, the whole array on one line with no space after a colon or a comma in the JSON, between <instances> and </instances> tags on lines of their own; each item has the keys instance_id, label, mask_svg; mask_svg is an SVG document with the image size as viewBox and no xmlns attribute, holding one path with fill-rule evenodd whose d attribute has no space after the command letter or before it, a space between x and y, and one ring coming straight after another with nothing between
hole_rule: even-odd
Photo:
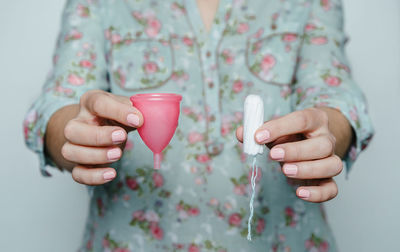
<instances>
[{"instance_id":1,"label":"blouse chest pocket on the left, above the pink cup","mask_svg":"<svg viewBox=\"0 0 400 252\"><path fill-rule=\"evenodd\" d=\"M156 89L171 79L175 60L169 38L134 38L129 30L113 31L109 52L111 83L122 90Z\"/></svg>"}]
</instances>

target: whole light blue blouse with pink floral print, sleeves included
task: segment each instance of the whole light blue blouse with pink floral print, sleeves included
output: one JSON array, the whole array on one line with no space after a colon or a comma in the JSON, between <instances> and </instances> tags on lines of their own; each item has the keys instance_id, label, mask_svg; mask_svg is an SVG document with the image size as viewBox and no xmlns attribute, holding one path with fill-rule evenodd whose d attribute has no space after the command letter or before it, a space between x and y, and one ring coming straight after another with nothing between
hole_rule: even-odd
<instances>
[{"instance_id":1,"label":"whole light blue blouse with pink floral print, sleeves included","mask_svg":"<svg viewBox=\"0 0 400 252\"><path fill-rule=\"evenodd\" d=\"M220 0L209 32L195 0L69 0L54 69L24 121L43 175L53 164L43 151L47 122L84 92L183 96L160 170L132 132L113 164L117 178L89 187L80 250L336 251L321 205L298 199L265 152L246 239L251 164L235 129L248 94L263 98L266 120L337 108L356 136L344 160L350 169L373 130L345 41L340 0Z\"/></svg>"}]
</instances>

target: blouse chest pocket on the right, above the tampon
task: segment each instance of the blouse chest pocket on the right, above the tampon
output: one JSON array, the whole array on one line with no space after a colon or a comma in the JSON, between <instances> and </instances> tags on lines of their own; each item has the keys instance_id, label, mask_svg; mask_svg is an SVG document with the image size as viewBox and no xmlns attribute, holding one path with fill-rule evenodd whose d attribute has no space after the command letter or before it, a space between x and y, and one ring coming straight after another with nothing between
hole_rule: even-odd
<instances>
[{"instance_id":1,"label":"blouse chest pocket on the right, above the tampon","mask_svg":"<svg viewBox=\"0 0 400 252\"><path fill-rule=\"evenodd\" d=\"M263 37L247 39L247 69L261 82L277 86L292 84L302 40L299 24L285 24Z\"/></svg>"}]
</instances>

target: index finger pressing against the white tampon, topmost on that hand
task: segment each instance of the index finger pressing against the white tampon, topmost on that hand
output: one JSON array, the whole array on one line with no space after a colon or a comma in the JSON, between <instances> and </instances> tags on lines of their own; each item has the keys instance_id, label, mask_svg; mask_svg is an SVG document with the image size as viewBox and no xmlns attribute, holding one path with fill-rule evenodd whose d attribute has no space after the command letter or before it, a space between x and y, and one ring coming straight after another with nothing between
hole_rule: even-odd
<instances>
[{"instance_id":1,"label":"index finger pressing against the white tampon, topmost on that hand","mask_svg":"<svg viewBox=\"0 0 400 252\"><path fill-rule=\"evenodd\" d=\"M265 122L255 133L257 143L266 144L275 141L279 137L298 133L310 133L317 131L322 125L328 125L326 112L309 108L295 111L283 117ZM326 133L327 127L321 132ZM316 133L314 135L317 135Z\"/></svg>"}]
</instances>

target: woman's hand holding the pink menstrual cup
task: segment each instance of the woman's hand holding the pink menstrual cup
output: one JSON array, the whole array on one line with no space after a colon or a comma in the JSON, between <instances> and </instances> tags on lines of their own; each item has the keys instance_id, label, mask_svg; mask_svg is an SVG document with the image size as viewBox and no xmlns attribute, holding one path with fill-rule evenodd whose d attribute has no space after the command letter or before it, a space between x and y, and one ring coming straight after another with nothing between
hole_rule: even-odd
<instances>
[{"instance_id":1,"label":"woman's hand holding the pink menstrual cup","mask_svg":"<svg viewBox=\"0 0 400 252\"><path fill-rule=\"evenodd\" d=\"M75 181L87 185L107 183L116 176L116 171L108 164L121 158L127 133L140 127L143 117L129 98L101 90L83 94L78 108L75 116L64 120L65 123L57 124L57 118L68 114L63 113L63 109L52 116L46 147L59 166L72 169ZM63 134L57 127L63 129ZM49 137L62 139L56 139L58 144L52 145Z\"/></svg>"}]
</instances>

